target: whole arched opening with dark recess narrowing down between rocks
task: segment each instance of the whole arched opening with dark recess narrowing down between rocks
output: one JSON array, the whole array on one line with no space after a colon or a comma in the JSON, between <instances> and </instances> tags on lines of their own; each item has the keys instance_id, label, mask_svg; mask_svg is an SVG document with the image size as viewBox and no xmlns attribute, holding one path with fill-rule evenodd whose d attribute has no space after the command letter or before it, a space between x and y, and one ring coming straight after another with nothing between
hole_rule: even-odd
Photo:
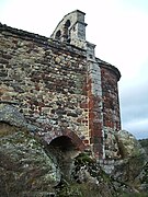
<instances>
[{"instance_id":1,"label":"whole arched opening with dark recess narrowing down between rocks","mask_svg":"<svg viewBox=\"0 0 148 197\"><path fill-rule=\"evenodd\" d=\"M84 150L81 139L71 130L54 131L46 135L47 151L50 152L57 166L60 169L62 178L70 179L73 158Z\"/></svg>"}]
</instances>

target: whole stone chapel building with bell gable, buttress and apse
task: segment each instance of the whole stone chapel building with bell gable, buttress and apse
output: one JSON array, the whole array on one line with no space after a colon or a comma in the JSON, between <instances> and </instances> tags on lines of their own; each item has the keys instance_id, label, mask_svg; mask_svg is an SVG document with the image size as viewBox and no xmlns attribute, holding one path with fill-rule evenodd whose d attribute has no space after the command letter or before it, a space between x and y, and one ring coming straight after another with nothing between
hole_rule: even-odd
<instances>
[{"instance_id":1,"label":"whole stone chapel building with bell gable, buttress and apse","mask_svg":"<svg viewBox=\"0 0 148 197\"><path fill-rule=\"evenodd\" d=\"M79 10L49 38L0 24L0 103L16 107L47 144L65 136L105 159L106 130L121 129L121 73L95 57L86 26Z\"/></svg>"}]
</instances>

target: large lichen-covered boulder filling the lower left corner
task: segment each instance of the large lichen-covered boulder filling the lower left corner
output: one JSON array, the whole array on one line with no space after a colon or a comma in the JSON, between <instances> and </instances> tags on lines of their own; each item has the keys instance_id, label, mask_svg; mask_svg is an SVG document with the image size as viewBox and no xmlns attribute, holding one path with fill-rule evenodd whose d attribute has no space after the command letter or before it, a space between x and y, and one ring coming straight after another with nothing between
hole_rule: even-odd
<instances>
[{"instance_id":1,"label":"large lichen-covered boulder filling the lower left corner","mask_svg":"<svg viewBox=\"0 0 148 197\"><path fill-rule=\"evenodd\" d=\"M44 147L27 130L0 124L1 196L47 196L60 182L60 172Z\"/></svg>"}]
</instances>

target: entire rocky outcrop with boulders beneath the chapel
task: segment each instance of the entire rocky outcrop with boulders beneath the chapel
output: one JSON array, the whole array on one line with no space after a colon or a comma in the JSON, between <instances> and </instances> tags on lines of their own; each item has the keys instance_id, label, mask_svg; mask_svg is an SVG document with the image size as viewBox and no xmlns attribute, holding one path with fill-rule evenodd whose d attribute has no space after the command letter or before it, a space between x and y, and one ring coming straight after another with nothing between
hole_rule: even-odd
<instances>
[{"instance_id":1,"label":"entire rocky outcrop with boulders beneath the chapel","mask_svg":"<svg viewBox=\"0 0 148 197\"><path fill-rule=\"evenodd\" d=\"M122 158L109 173L89 150L71 158L31 130L18 111L0 104L0 196L148 196L147 154L127 131L116 136Z\"/></svg>"}]
</instances>

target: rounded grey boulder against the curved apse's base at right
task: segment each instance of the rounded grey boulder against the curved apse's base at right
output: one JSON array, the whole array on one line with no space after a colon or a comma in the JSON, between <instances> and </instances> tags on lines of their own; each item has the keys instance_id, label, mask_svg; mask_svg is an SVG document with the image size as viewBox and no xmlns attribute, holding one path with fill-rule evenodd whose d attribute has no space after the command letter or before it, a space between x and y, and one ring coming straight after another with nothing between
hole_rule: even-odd
<instances>
[{"instance_id":1,"label":"rounded grey boulder against the curved apse's base at right","mask_svg":"<svg viewBox=\"0 0 148 197\"><path fill-rule=\"evenodd\" d=\"M116 135L122 160L114 163L113 175L124 182L134 182L146 165L148 158L138 140L126 130Z\"/></svg>"}]
</instances>

